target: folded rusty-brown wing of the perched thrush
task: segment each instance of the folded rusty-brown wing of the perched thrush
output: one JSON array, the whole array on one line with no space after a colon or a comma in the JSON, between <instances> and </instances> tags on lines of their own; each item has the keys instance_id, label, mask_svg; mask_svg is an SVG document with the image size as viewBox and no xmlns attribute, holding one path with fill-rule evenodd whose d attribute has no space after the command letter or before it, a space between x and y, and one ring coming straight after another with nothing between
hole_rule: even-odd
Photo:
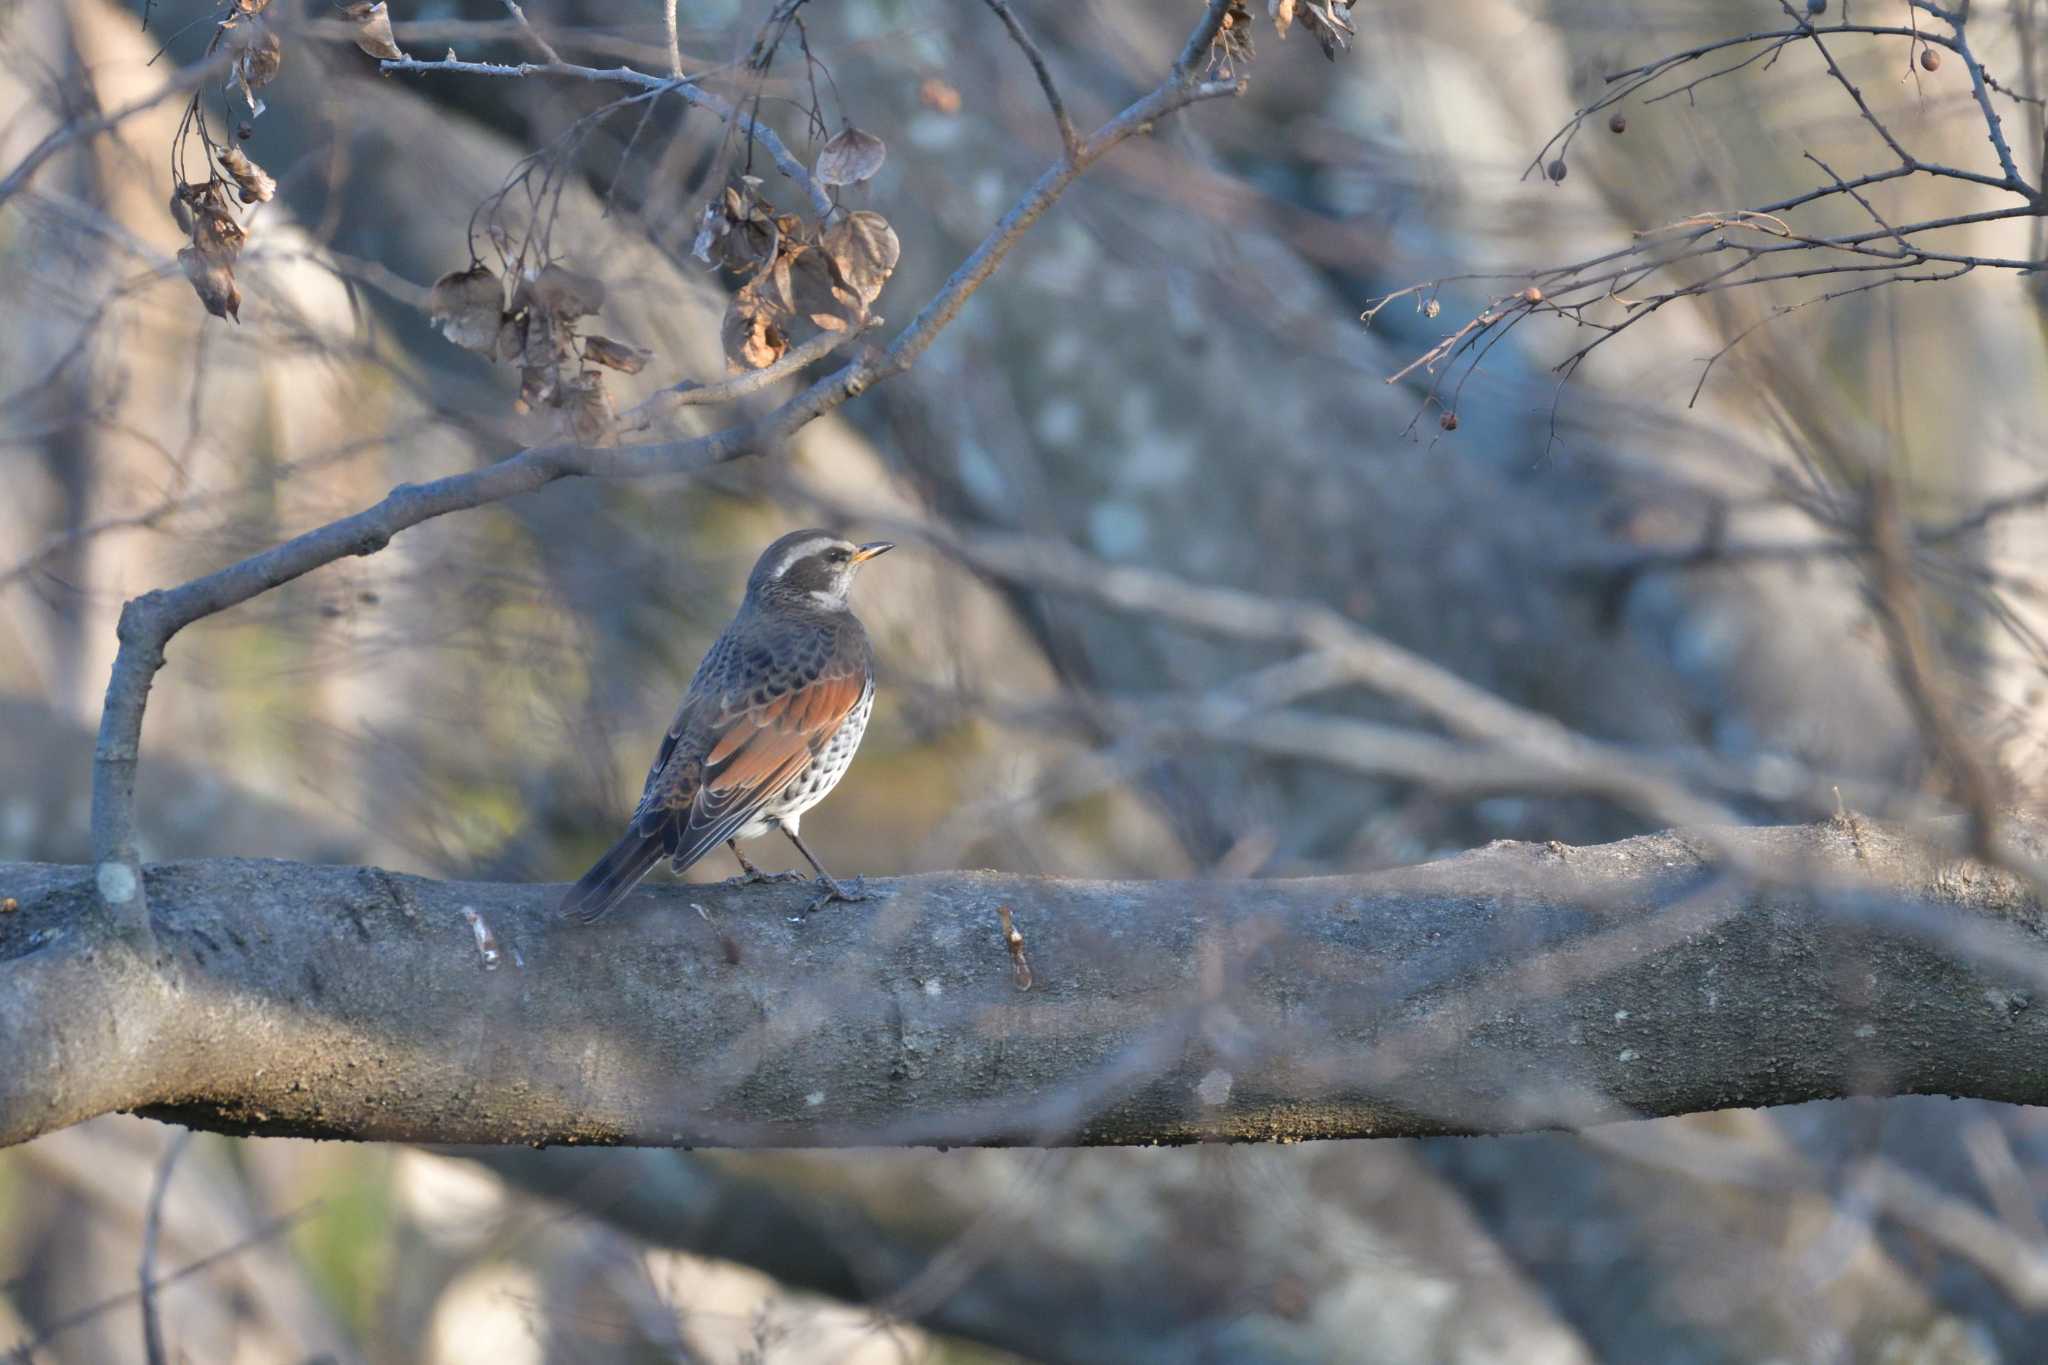
<instances>
[{"instance_id":1,"label":"folded rusty-brown wing of the perched thrush","mask_svg":"<svg viewBox=\"0 0 2048 1365\"><path fill-rule=\"evenodd\" d=\"M645 835L659 833L680 866L696 862L803 772L864 690L864 671L846 667L760 702L702 698L676 718L676 741L647 784L635 825Z\"/></svg>"}]
</instances>

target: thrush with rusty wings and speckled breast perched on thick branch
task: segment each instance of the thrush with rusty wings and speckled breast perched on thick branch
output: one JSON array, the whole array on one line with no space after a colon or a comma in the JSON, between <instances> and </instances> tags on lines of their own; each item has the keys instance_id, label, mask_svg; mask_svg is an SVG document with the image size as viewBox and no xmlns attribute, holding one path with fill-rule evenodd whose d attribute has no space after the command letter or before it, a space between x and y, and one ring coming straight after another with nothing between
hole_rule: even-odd
<instances>
[{"instance_id":1,"label":"thrush with rusty wings and speckled breast perched on thick branch","mask_svg":"<svg viewBox=\"0 0 2048 1365\"><path fill-rule=\"evenodd\" d=\"M803 812L846 776L874 708L874 655L846 598L854 573L887 540L854 544L827 530L797 530L748 575L748 596L705 661L647 769L647 790L625 837L561 898L561 913L592 921L618 905L657 862L682 872L721 841L743 882L803 880L764 874L739 839L788 835L825 892L811 902L860 900L803 845Z\"/></svg>"}]
</instances>

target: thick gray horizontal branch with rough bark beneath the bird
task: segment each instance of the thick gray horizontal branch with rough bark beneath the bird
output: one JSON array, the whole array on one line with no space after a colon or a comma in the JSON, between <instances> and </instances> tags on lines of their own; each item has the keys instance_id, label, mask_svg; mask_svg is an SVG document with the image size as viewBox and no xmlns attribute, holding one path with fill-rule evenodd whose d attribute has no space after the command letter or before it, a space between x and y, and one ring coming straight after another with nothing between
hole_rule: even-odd
<instances>
[{"instance_id":1,"label":"thick gray horizontal branch with rough bark beneath the bird","mask_svg":"<svg viewBox=\"0 0 2048 1365\"><path fill-rule=\"evenodd\" d=\"M1667 833L1366 878L920 876L805 921L803 888L668 886L575 929L545 886L221 860L147 872L154 954L88 870L6 866L0 1144L113 1109L236 1134L844 1146L2048 1101L2048 952L2011 880L1862 821L1716 839L1774 888ZM2015 839L2038 855L2038 827Z\"/></svg>"}]
</instances>

